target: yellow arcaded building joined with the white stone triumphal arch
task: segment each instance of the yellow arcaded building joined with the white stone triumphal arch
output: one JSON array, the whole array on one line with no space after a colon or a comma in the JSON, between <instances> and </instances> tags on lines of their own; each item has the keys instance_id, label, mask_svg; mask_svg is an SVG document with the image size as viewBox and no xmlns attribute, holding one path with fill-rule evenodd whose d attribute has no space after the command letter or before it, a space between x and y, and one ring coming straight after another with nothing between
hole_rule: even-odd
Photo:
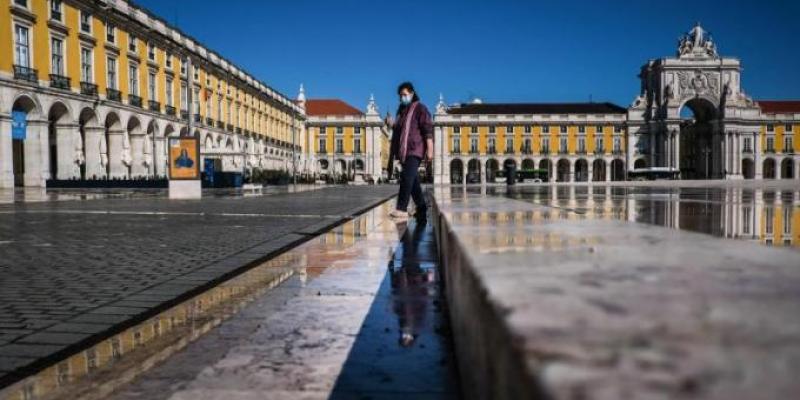
<instances>
[{"instance_id":1,"label":"yellow arcaded building joined with the white stone triumphal arch","mask_svg":"<svg viewBox=\"0 0 800 400\"><path fill-rule=\"evenodd\" d=\"M755 101L741 62L699 25L674 57L642 66L627 109L609 103L457 104L436 110L438 183L492 182L507 163L550 180L625 180L637 169L682 179L800 179L800 101Z\"/></svg>"}]
</instances>

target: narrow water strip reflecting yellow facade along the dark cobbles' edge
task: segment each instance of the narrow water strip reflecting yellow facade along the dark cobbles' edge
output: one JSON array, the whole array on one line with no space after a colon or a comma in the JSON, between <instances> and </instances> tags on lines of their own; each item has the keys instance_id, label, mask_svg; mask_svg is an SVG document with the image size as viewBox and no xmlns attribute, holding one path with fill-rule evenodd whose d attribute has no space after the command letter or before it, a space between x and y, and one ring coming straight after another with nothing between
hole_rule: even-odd
<instances>
[{"instance_id":1,"label":"narrow water strip reflecting yellow facade along the dark cobbles' edge","mask_svg":"<svg viewBox=\"0 0 800 400\"><path fill-rule=\"evenodd\" d=\"M105 398L289 278L305 284L319 265L346 260L356 242L381 234L387 204L0 390L0 400Z\"/></svg>"}]
</instances>

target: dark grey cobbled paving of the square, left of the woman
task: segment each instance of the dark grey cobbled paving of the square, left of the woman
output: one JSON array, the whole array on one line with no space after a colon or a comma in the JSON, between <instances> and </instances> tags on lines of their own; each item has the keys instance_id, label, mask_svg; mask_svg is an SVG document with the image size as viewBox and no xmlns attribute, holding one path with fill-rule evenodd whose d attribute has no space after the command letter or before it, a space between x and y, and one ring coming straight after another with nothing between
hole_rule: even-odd
<instances>
[{"instance_id":1,"label":"dark grey cobbled paving of the square, left of the woman","mask_svg":"<svg viewBox=\"0 0 800 400\"><path fill-rule=\"evenodd\" d=\"M0 387L396 190L0 206Z\"/></svg>"}]
</instances>

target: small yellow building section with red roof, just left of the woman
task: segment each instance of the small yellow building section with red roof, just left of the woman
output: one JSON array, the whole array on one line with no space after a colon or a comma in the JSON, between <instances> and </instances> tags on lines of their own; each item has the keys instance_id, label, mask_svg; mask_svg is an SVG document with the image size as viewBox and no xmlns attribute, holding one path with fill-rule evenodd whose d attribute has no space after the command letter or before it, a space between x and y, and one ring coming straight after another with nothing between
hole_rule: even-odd
<instances>
[{"instance_id":1,"label":"small yellow building section with red roof, just left of the woman","mask_svg":"<svg viewBox=\"0 0 800 400\"><path fill-rule=\"evenodd\" d=\"M308 160L322 180L370 180L383 176L389 135L370 97L366 113L338 99L306 99L300 88L297 104L307 115Z\"/></svg>"}]
</instances>

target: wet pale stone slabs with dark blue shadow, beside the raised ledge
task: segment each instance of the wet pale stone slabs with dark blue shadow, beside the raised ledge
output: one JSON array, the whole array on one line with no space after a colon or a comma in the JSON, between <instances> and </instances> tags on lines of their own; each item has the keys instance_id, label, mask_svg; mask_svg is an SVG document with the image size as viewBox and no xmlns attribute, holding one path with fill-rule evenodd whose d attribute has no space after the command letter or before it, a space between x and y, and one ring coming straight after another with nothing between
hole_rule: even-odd
<instances>
[{"instance_id":1,"label":"wet pale stone slabs with dark blue shadow, beside the raised ledge","mask_svg":"<svg viewBox=\"0 0 800 400\"><path fill-rule=\"evenodd\" d=\"M289 279L110 398L460 398L432 228L391 206L288 252Z\"/></svg>"}]
</instances>

